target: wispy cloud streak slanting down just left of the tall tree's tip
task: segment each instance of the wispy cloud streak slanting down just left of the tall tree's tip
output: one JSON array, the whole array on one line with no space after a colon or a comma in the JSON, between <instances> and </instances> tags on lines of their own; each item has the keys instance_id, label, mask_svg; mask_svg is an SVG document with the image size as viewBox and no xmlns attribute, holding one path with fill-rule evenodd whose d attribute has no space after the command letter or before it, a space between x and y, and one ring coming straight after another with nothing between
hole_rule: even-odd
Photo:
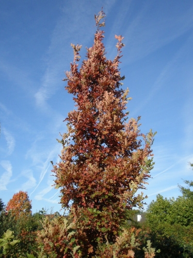
<instances>
[{"instance_id":1,"label":"wispy cloud streak slanting down just left of the tall tree's tip","mask_svg":"<svg viewBox=\"0 0 193 258\"><path fill-rule=\"evenodd\" d=\"M114 2L114 0L112 2ZM107 5L106 9L109 10L112 3L109 0L105 1L105 3ZM97 5L98 4L95 4L96 8ZM62 79L65 76L64 70L69 70L70 62L73 61L73 50L70 47L70 43L81 44L83 48L81 49L80 55L84 56L85 47L90 39L93 38L92 32L94 26L90 26L89 24L91 15L93 17L94 25L94 13L100 10L95 10L93 13L91 10L88 12L85 8L85 2L82 1L77 4L76 0L72 0L70 9L68 8L69 6L64 3L63 12L58 18L57 24L51 33L47 61L45 62L45 73L42 77L39 89L34 94L36 105L46 113L52 111L48 104L48 99L63 84ZM94 9L94 6L91 6L91 8ZM101 8L101 6L99 8ZM76 13L79 13L80 15L72 16L72 14ZM82 30L82 28L84 29ZM61 81L61 84L59 80Z\"/></svg>"}]
</instances>

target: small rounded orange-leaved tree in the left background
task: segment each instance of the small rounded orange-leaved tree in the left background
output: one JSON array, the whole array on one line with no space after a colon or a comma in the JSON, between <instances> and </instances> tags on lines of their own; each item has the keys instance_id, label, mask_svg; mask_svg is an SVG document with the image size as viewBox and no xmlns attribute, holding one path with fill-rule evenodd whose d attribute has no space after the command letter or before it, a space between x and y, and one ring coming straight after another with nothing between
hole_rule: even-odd
<instances>
[{"instance_id":1,"label":"small rounded orange-leaved tree in the left background","mask_svg":"<svg viewBox=\"0 0 193 258\"><path fill-rule=\"evenodd\" d=\"M17 219L23 215L29 215L32 213L32 201L29 200L28 193L25 191L19 191L15 193L12 199L9 200L6 206L6 210Z\"/></svg>"}]
</instances>

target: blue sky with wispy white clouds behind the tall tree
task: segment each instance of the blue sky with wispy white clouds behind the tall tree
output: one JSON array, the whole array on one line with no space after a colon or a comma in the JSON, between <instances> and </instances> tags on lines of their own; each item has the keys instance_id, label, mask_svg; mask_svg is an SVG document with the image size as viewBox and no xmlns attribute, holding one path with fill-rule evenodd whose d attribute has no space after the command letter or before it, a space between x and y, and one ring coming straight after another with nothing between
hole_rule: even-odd
<instances>
[{"instance_id":1,"label":"blue sky with wispy white clouds behind the tall tree","mask_svg":"<svg viewBox=\"0 0 193 258\"><path fill-rule=\"evenodd\" d=\"M155 166L148 180L149 204L158 193L177 197L177 184L193 171L193 1L192 0L7 0L0 1L0 198L6 204L28 191L32 211L60 211L52 187L54 163L74 108L64 71L73 50L93 44L94 14L106 13L107 57L116 55L114 34L124 36L121 75L129 87L129 116L141 131L157 131Z\"/></svg>"}]
</instances>

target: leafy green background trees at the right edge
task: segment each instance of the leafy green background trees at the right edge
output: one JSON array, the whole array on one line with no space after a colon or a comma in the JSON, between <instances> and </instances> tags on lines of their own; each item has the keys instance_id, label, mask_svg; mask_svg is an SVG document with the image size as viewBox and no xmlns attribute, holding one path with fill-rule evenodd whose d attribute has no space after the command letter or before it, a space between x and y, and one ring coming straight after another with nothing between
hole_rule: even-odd
<instances>
[{"instance_id":1,"label":"leafy green background trees at the right edge","mask_svg":"<svg viewBox=\"0 0 193 258\"><path fill-rule=\"evenodd\" d=\"M176 257L176 251L177 257L193 257L193 182L184 182L188 187L179 186L182 196L167 199L159 194L146 211L147 238L161 249L160 258L165 253Z\"/></svg>"}]
</instances>

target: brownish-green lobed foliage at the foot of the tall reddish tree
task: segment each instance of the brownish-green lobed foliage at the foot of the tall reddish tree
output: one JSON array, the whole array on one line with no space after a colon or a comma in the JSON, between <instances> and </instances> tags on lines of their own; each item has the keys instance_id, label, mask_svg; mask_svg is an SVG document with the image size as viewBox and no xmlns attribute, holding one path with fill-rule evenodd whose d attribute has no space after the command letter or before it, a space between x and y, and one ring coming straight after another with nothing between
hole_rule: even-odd
<instances>
[{"instance_id":1,"label":"brownish-green lobed foliage at the foot of the tall reddish tree","mask_svg":"<svg viewBox=\"0 0 193 258\"><path fill-rule=\"evenodd\" d=\"M43 230L38 232L38 257L52 258L153 258L156 253L147 241L146 247L142 249L142 242L139 240L140 229L134 227L124 229L116 237L114 243L107 238L105 242L98 242L97 250L94 253L92 245L87 250L81 242L81 236L77 225L67 221L64 217L58 217L50 221L47 218L43 221ZM84 242L85 244L85 242ZM141 250L142 252L138 252Z\"/></svg>"}]
</instances>

